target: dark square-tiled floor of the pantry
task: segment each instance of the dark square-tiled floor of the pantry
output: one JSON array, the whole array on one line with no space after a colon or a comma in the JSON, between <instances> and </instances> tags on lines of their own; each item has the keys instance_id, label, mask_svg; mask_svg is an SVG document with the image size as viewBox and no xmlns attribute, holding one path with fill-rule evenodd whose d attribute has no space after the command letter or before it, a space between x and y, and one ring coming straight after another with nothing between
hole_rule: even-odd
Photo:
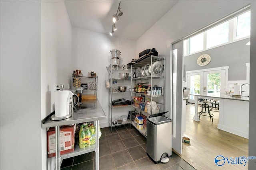
<instances>
[{"instance_id":1,"label":"dark square-tiled floor of the pantry","mask_svg":"<svg viewBox=\"0 0 256 170\"><path fill-rule=\"evenodd\" d=\"M154 164L146 154L146 138L134 127L122 125L100 129L100 170L194 170L172 152L169 162ZM95 170L95 152L62 161L61 170Z\"/></svg>"}]
</instances>

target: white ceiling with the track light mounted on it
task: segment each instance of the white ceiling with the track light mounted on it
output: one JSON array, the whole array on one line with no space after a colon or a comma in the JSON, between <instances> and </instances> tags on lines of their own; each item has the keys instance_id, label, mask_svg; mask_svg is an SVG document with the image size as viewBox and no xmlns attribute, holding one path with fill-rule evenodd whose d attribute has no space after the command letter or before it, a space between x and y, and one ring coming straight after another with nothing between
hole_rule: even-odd
<instances>
[{"instance_id":1,"label":"white ceiling with the track light mounted on it","mask_svg":"<svg viewBox=\"0 0 256 170\"><path fill-rule=\"evenodd\" d=\"M112 15L119 0L65 0L72 26L100 33L111 32ZM121 0L123 15L116 22L113 36L136 41L158 21L178 0Z\"/></svg>"}]
</instances>

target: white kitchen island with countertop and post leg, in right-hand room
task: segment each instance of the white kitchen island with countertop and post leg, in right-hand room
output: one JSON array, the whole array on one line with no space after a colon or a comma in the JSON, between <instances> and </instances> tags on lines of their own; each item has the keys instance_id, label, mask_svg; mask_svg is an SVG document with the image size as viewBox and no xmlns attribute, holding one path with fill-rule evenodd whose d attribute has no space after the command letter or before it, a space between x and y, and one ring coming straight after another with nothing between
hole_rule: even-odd
<instances>
[{"instance_id":1,"label":"white kitchen island with countertop and post leg, in right-hand room","mask_svg":"<svg viewBox=\"0 0 256 170\"><path fill-rule=\"evenodd\" d=\"M195 106L198 106L198 98L219 100L219 124L218 129L233 133L248 139L249 131L249 98L236 98L231 95L220 94L219 97L210 95L190 94L195 97ZM200 121L198 107L195 107L194 121Z\"/></svg>"}]
</instances>

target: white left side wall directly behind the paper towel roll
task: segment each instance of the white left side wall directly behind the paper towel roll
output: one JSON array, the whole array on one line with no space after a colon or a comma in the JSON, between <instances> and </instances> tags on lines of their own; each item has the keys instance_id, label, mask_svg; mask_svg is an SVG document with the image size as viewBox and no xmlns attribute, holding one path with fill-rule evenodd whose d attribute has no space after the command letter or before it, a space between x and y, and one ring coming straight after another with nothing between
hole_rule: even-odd
<instances>
[{"instance_id":1,"label":"white left side wall directly behind the paper towel roll","mask_svg":"<svg viewBox=\"0 0 256 170\"><path fill-rule=\"evenodd\" d=\"M72 72L72 27L64 1L41 1L41 119L54 111L54 90L68 89ZM42 169L47 166L46 129L42 129ZM54 158L48 160L53 167Z\"/></svg>"}]
</instances>

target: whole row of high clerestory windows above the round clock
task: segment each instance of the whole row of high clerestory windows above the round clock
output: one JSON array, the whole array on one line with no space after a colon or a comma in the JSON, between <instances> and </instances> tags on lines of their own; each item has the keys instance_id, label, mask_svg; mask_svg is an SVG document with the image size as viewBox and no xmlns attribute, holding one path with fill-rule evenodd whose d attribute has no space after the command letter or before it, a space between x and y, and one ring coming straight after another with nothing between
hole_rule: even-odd
<instances>
[{"instance_id":1,"label":"whole row of high clerestory windows above the round clock","mask_svg":"<svg viewBox=\"0 0 256 170\"><path fill-rule=\"evenodd\" d=\"M250 16L250 10L234 15L232 19L223 20L224 22L205 28L206 31L184 40L184 56L248 38Z\"/></svg>"}]
</instances>

